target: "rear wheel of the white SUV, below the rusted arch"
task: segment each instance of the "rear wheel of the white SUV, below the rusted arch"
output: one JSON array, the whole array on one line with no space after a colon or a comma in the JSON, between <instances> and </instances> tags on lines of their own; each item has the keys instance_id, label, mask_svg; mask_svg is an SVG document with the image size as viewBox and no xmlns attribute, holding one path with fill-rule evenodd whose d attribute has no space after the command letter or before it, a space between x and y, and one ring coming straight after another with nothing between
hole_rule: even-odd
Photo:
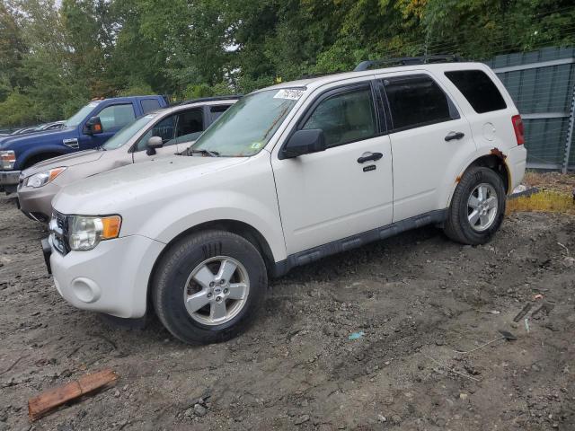
<instances>
[{"instance_id":1,"label":"rear wheel of the white SUV, below the rusted arch","mask_svg":"<svg viewBox=\"0 0 575 431\"><path fill-rule=\"evenodd\" d=\"M505 215L506 195L500 176L489 168L464 173L451 200L445 233L464 244L483 244L497 232Z\"/></svg>"}]
</instances>

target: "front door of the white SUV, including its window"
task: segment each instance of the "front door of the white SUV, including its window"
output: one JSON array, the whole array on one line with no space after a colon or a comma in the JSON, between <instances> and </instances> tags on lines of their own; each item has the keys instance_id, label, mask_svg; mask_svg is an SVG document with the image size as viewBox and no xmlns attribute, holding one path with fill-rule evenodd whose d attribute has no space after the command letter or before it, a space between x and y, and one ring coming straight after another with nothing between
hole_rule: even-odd
<instances>
[{"instance_id":1,"label":"front door of the white SUV, including its window","mask_svg":"<svg viewBox=\"0 0 575 431\"><path fill-rule=\"evenodd\" d=\"M325 151L272 156L288 254L365 233L393 218L391 145L373 83L319 94L295 129L307 128L323 129Z\"/></svg>"}]
</instances>

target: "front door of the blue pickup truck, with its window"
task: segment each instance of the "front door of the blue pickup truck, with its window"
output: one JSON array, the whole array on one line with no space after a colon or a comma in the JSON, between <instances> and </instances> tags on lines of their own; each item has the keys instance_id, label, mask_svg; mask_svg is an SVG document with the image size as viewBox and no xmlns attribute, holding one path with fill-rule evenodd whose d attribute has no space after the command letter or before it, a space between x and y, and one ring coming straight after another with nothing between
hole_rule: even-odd
<instances>
[{"instance_id":1,"label":"front door of the blue pickup truck, with its window","mask_svg":"<svg viewBox=\"0 0 575 431\"><path fill-rule=\"evenodd\" d=\"M102 133L96 135L84 133L84 124L89 118L84 119L79 125L79 146L81 150L88 150L104 145L120 128L123 128L136 119L136 111L134 110L134 104L132 102L119 102L101 107L100 110L94 111L90 117L100 117L100 121L102 121Z\"/></svg>"}]
</instances>

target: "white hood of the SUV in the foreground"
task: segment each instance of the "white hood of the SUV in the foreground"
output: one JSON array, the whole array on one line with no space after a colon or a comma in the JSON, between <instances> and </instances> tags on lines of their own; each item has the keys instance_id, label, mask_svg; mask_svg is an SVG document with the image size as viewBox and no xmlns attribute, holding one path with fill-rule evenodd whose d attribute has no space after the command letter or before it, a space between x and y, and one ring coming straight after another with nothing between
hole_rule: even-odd
<instances>
[{"instance_id":1,"label":"white hood of the SUV in the foreground","mask_svg":"<svg viewBox=\"0 0 575 431\"><path fill-rule=\"evenodd\" d=\"M134 163L66 186L52 205L63 214L111 214L130 207L139 197L165 196L182 183L205 187L208 177L246 160L247 157L174 155Z\"/></svg>"}]
</instances>

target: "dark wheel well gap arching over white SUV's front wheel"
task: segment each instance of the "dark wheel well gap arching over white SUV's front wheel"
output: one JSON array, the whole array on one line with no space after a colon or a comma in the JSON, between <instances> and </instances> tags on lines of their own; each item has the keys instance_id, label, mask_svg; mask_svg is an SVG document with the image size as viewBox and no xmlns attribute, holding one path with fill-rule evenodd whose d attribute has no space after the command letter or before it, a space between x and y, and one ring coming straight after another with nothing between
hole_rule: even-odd
<instances>
[{"instance_id":1,"label":"dark wheel well gap arching over white SUV's front wheel","mask_svg":"<svg viewBox=\"0 0 575 431\"><path fill-rule=\"evenodd\" d=\"M214 220L211 222L198 224L198 225L193 226L190 229L180 233L178 236L173 238L173 240L171 242L168 242L166 244L166 246L164 247L164 250L158 256L158 258L155 259L154 268L152 268L152 271L150 272L150 278L148 280L148 289L147 289L147 298L148 298L148 307L147 308L148 308L148 311L153 310L153 307L151 306L151 302L150 302L151 301L151 292L152 292L152 289L150 288L151 287L150 284L152 282L152 279L154 278L157 264L164 257L164 253L166 251L170 250L170 248L173 246L173 244L175 242L180 241L182 238L184 238L184 237L186 237L192 233L197 233L197 232L207 231L207 230L219 230L219 231L226 231L226 232L235 233L237 235L242 236L247 241L252 242L254 247L256 249L258 249L258 251L260 251L261 257L263 258L263 261L264 261L266 268L268 270L268 275L270 276L270 274L273 271L274 265L275 265L275 260L273 259L273 253L271 252L270 245L268 244L266 239L253 226L251 226L250 224L243 223L243 222L238 222L237 220Z\"/></svg>"}]
</instances>

